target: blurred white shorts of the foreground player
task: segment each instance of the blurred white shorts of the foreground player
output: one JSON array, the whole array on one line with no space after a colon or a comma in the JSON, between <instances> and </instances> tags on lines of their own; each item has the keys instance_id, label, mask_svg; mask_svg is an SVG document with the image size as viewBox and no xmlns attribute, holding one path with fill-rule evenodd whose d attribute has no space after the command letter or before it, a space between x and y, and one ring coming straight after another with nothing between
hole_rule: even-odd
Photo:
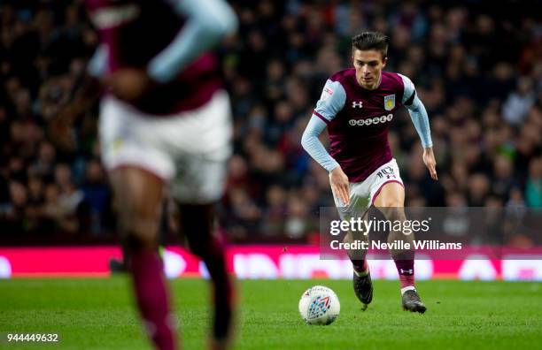
<instances>
[{"instance_id":1,"label":"blurred white shorts of the foreground player","mask_svg":"<svg viewBox=\"0 0 542 350\"><path fill-rule=\"evenodd\" d=\"M232 152L228 94L217 91L197 110L153 117L113 96L100 105L99 133L107 171L136 166L169 183L180 202L221 198Z\"/></svg>"}]
</instances>

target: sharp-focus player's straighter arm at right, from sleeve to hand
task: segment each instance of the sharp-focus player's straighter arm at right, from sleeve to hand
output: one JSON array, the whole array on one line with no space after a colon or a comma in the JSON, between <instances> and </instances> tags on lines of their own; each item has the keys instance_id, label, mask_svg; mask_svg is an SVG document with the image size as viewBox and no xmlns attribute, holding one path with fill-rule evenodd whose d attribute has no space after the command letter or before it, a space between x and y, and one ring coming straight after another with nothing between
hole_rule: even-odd
<instances>
[{"instance_id":1,"label":"sharp-focus player's straighter arm at right, from sleeve to hand","mask_svg":"<svg viewBox=\"0 0 542 350\"><path fill-rule=\"evenodd\" d=\"M399 74L400 75L400 74ZM410 119L420 136L423 146L423 163L429 169L431 179L437 180L437 162L433 154L433 141L431 141L431 130L427 110L416 94L413 82L401 75L405 90L403 93L403 104L410 114Z\"/></svg>"}]
</instances>

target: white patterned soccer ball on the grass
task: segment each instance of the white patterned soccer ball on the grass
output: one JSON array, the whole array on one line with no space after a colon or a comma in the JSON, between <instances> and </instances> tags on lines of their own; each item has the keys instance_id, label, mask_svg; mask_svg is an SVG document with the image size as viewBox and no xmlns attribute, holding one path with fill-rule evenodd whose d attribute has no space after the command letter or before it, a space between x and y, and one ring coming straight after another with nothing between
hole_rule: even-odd
<instances>
[{"instance_id":1,"label":"white patterned soccer ball on the grass","mask_svg":"<svg viewBox=\"0 0 542 350\"><path fill-rule=\"evenodd\" d=\"M299 314L306 324L333 323L341 311L337 294L326 286L314 285L301 295Z\"/></svg>"}]
</instances>

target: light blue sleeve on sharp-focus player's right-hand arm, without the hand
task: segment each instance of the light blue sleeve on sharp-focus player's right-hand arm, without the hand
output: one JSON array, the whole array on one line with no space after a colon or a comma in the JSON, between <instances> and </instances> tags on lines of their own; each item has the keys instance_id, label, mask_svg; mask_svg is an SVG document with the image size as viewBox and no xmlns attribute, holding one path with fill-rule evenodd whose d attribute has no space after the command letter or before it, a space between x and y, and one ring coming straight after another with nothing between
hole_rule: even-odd
<instances>
[{"instance_id":1,"label":"light blue sleeve on sharp-focus player's right-hand arm, without the hand","mask_svg":"<svg viewBox=\"0 0 542 350\"><path fill-rule=\"evenodd\" d=\"M427 110L425 110L425 106L418 98L413 82L404 75L399 74L399 76L403 80L403 85L405 86L402 103L405 104L408 114L410 114L410 119L416 128L416 132L418 132L418 135L420 136L420 140L422 140L422 146L424 148L432 147L433 141L431 140L431 129Z\"/></svg>"}]
</instances>

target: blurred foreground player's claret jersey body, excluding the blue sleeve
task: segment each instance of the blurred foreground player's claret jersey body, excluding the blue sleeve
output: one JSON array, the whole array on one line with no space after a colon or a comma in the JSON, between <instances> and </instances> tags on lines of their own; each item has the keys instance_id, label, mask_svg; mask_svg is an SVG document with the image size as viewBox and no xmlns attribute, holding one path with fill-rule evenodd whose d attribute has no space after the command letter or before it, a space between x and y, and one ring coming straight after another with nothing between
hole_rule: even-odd
<instances>
[{"instance_id":1,"label":"blurred foreground player's claret jersey body, excluding the blue sleeve","mask_svg":"<svg viewBox=\"0 0 542 350\"><path fill-rule=\"evenodd\" d=\"M107 72L123 67L145 69L174 40L186 20L160 0L86 0L86 5L108 51ZM222 86L217 68L217 58L206 53L170 82L151 88L135 106L157 115L196 109Z\"/></svg>"}]
</instances>

